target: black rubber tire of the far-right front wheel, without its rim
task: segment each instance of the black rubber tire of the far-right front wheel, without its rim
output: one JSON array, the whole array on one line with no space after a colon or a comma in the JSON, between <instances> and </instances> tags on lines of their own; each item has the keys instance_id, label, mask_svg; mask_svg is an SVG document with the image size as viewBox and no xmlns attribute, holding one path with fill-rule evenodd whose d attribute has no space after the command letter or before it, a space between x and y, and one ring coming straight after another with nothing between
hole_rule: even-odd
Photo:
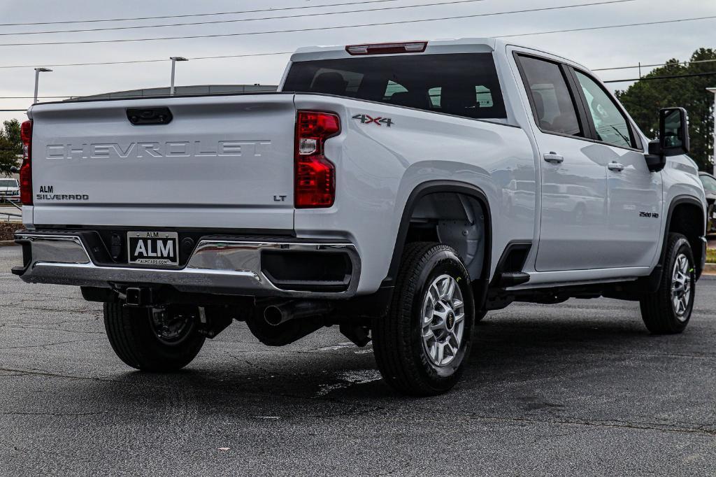
<instances>
[{"instance_id":1,"label":"black rubber tire of the far-right front wheel, without its rim","mask_svg":"<svg viewBox=\"0 0 716 477\"><path fill-rule=\"evenodd\" d=\"M672 299L672 284L674 281L674 267L677 259L684 256L688 261L688 284L690 294L683 310L677 311ZM676 334L684 331L691 319L696 292L696 271L694 255L686 237L681 233L669 233L667 251L664 258L664 271L659 282L659 289L642 297L639 304L642 309L642 319L649 332L653 334Z\"/></svg>"}]
</instances>

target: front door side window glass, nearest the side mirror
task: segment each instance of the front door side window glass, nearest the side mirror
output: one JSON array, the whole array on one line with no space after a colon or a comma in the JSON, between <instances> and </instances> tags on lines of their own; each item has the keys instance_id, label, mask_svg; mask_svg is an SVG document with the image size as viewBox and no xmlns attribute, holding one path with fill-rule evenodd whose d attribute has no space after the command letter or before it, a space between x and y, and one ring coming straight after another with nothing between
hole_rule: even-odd
<instances>
[{"instance_id":1,"label":"front door side window glass, nearest the side mirror","mask_svg":"<svg viewBox=\"0 0 716 477\"><path fill-rule=\"evenodd\" d=\"M596 139L621 148L633 148L634 141L629 131L629 122L609 93L586 74L576 69L574 72L594 120Z\"/></svg>"}]
</instances>

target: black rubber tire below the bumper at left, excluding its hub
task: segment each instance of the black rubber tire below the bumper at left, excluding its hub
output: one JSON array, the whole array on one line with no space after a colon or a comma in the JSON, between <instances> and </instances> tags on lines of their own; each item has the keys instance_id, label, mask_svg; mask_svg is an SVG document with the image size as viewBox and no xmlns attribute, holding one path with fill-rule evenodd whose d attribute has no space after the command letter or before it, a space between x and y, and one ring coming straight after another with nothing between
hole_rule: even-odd
<instances>
[{"instance_id":1,"label":"black rubber tire below the bumper at left, excluding its hub","mask_svg":"<svg viewBox=\"0 0 716 477\"><path fill-rule=\"evenodd\" d=\"M105 303L105 329L112 350L127 365L142 371L169 372L188 365L204 344L195 323L174 342L160 339L149 309Z\"/></svg>"}]
</instances>

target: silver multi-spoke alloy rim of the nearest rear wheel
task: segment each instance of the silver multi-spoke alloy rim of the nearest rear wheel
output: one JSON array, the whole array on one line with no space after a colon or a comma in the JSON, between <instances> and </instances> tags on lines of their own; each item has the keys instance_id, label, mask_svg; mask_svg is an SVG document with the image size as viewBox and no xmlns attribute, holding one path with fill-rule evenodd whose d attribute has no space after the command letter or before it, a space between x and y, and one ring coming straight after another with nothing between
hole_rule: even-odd
<instances>
[{"instance_id":1,"label":"silver multi-spoke alloy rim of the nearest rear wheel","mask_svg":"<svg viewBox=\"0 0 716 477\"><path fill-rule=\"evenodd\" d=\"M440 275L422 300L422 346L433 366L447 366L455 360L464 330L463 292L452 276Z\"/></svg>"}]
</instances>

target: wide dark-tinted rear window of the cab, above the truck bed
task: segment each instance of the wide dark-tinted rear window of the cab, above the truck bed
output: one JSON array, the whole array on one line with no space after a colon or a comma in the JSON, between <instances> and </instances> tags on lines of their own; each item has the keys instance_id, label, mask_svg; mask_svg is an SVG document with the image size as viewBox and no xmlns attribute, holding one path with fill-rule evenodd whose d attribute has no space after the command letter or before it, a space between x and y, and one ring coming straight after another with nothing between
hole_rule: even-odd
<instances>
[{"instance_id":1,"label":"wide dark-tinted rear window of the cab, above the truck bed","mask_svg":"<svg viewBox=\"0 0 716 477\"><path fill-rule=\"evenodd\" d=\"M283 90L352 97L475 119L507 117L490 53L296 62Z\"/></svg>"}]
</instances>

